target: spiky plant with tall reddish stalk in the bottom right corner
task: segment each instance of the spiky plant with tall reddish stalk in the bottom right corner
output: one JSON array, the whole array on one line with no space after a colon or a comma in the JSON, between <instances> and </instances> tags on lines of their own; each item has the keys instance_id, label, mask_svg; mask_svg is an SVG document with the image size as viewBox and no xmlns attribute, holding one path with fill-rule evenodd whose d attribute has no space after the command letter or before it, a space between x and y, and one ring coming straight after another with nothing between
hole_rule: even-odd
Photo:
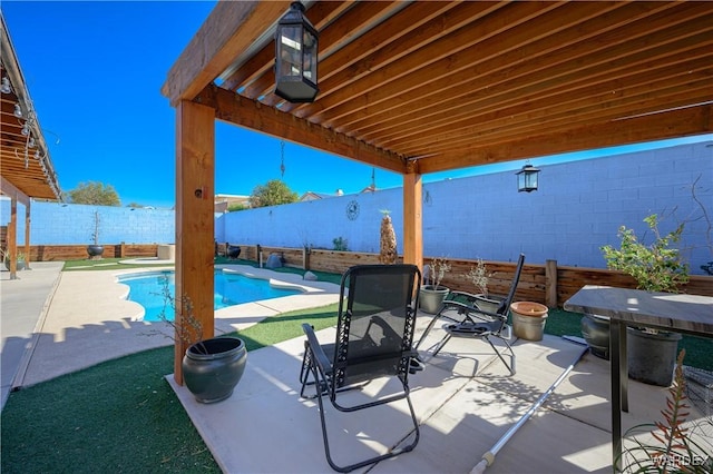
<instances>
[{"instance_id":1,"label":"spiky plant with tall reddish stalk in the bottom right corner","mask_svg":"<svg viewBox=\"0 0 713 474\"><path fill-rule=\"evenodd\" d=\"M709 454L711 446L702 446L694 438L696 432L701 435L705 431L685 427L691 407L685 403L684 357L685 350L682 349L675 364L674 382L666 396L666 408L661 411L663 421L626 431L622 454L615 463L617 472L710 473L713 468L713 458Z\"/></svg>"}]
</instances>

